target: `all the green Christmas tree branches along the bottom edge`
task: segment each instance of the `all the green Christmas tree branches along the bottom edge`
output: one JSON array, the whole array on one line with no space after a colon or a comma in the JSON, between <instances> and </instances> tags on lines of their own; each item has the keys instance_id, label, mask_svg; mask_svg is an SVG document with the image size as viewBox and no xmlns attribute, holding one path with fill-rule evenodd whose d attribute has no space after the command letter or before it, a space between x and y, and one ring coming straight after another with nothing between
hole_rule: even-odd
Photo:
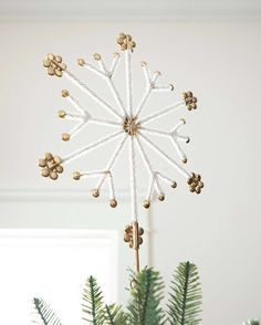
<instances>
[{"instance_id":1,"label":"all the green Christmas tree branches along the bottom edge","mask_svg":"<svg viewBox=\"0 0 261 325\"><path fill-rule=\"evenodd\" d=\"M154 269L145 268L132 274L130 300L127 312L122 306L104 305L97 281L90 276L83 292L83 319L92 325L198 325L201 311L201 289L198 271L190 262L180 263L174 273L168 312L160 306L163 280ZM33 300L40 325L62 325L51 307L39 298ZM167 316L167 315L168 316ZM244 325L259 325L252 321Z\"/></svg>"}]
</instances>

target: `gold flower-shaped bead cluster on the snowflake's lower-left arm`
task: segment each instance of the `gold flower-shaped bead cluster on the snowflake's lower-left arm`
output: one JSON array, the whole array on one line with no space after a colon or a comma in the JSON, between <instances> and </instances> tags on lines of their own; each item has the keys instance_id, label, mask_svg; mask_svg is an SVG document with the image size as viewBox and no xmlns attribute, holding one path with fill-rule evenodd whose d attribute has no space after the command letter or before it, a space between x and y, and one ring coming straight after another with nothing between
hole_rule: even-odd
<instances>
[{"instance_id":1,"label":"gold flower-shaped bead cluster on the snowflake's lower-left arm","mask_svg":"<svg viewBox=\"0 0 261 325\"><path fill-rule=\"evenodd\" d=\"M50 177L55 180L59 174L63 172L62 159L59 156L53 156L50 153L44 155L44 158L39 159L39 167L41 167L41 175Z\"/></svg>"}]
</instances>

